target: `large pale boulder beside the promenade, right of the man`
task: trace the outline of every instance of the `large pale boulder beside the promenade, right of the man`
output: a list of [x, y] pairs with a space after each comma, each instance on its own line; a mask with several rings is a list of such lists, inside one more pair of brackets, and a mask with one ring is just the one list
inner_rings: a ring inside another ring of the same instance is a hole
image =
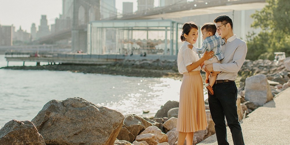
[[273, 99], [266, 75], [260, 74], [248, 77], [245, 85], [245, 99], [262, 106]]

